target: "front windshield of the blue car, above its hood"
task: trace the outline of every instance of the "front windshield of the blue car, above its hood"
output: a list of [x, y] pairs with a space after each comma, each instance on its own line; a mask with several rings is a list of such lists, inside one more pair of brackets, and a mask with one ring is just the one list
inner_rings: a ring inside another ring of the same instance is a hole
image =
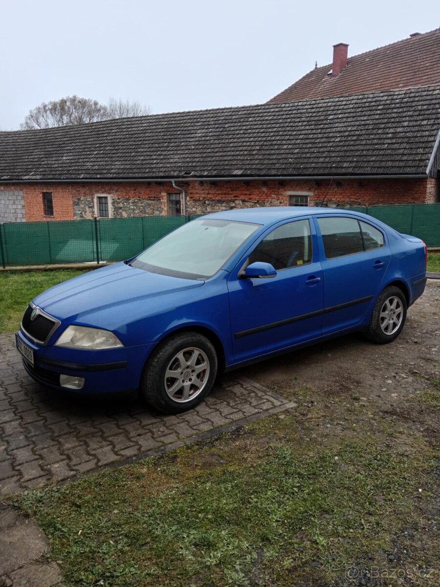
[[154, 273], [206, 279], [215, 275], [258, 224], [199, 218], [170, 232], [141, 252], [131, 266]]

